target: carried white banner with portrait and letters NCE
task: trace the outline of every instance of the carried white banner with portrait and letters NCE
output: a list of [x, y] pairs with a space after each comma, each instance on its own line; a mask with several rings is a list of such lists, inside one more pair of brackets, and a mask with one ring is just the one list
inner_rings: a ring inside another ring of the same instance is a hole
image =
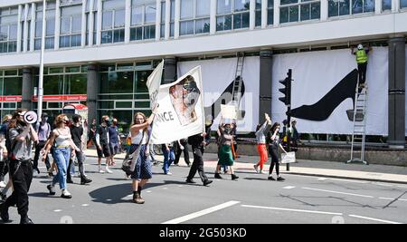
[[161, 85], [151, 134], [152, 143], [169, 143], [203, 132], [203, 93], [200, 66], [175, 82]]

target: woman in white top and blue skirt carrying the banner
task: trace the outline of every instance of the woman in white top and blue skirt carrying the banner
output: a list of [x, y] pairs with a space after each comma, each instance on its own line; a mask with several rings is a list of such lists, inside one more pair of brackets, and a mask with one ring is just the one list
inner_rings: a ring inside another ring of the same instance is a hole
[[130, 127], [131, 145], [129, 153], [133, 155], [131, 162], [132, 188], [133, 188], [133, 201], [137, 204], [143, 204], [145, 200], [141, 197], [141, 190], [144, 185], [152, 178], [151, 162], [149, 154], [149, 140], [150, 135], [148, 127], [154, 120], [156, 109], [148, 119], [142, 112], [137, 112], [134, 116], [133, 125]]

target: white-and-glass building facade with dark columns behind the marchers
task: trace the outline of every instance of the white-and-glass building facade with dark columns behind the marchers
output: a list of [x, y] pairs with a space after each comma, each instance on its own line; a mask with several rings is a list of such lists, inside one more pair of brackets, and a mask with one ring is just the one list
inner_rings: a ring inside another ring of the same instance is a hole
[[109, 114], [127, 127], [136, 111], [149, 112], [146, 81], [162, 59], [163, 82], [173, 82], [184, 62], [216, 64], [244, 53], [258, 58], [248, 79], [257, 82], [251, 109], [259, 122], [272, 112], [281, 59], [274, 57], [363, 43], [386, 50], [387, 134], [380, 134], [404, 146], [407, 0], [52, 0], [45, 9], [43, 1], [3, 0], [2, 116], [36, 109], [43, 11], [43, 109], [52, 114], [81, 102], [90, 119]]

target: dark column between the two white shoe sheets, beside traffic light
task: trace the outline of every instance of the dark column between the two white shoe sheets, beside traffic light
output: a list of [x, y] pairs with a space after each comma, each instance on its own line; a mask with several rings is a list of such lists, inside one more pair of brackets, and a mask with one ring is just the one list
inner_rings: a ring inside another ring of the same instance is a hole
[[272, 51], [260, 51], [260, 100], [259, 123], [265, 121], [264, 113], [271, 117]]

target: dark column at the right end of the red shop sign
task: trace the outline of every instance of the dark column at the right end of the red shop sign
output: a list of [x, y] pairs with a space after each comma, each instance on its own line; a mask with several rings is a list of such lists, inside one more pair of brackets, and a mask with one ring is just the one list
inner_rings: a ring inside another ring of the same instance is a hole
[[90, 63], [88, 65], [88, 80], [87, 80], [87, 100], [88, 106], [88, 123], [92, 123], [92, 120], [96, 120], [98, 113], [98, 92], [99, 92], [99, 72], [98, 65]]

